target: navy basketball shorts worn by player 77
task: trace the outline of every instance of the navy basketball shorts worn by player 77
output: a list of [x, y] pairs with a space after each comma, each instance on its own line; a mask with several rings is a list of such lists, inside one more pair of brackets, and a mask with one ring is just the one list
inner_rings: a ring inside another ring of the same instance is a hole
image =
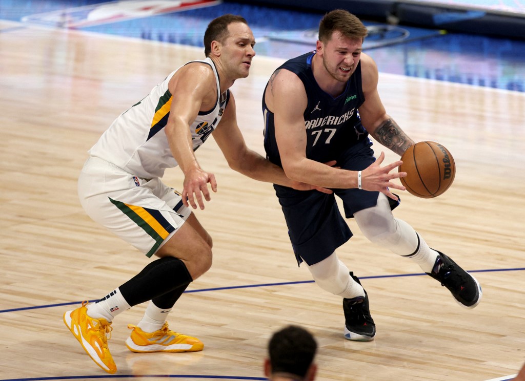
[[[370, 142], [363, 142], [349, 148], [340, 155], [336, 166], [354, 171], [369, 167], [375, 161], [371, 145]], [[336, 195], [343, 201], [346, 218], [375, 206], [379, 196], [379, 192], [357, 188], [333, 189], [332, 194], [316, 190], [298, 191], [276, 184], [274, 189], [285, 215], [297, 263], [304, 260], [308, 265], [327, 258], [353, 235], [341, 215]], [[391, 203], [391, 208], [394, 209], [397, 204]]]

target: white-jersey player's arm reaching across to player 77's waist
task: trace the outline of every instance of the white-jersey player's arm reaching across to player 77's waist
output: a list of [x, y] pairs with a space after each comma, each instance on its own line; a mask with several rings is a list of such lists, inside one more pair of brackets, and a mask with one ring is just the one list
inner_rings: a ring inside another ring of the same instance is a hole
[[289, 179], [282, 168], [248, 148], [237, 124], [235, 98], [231, 91], [223, 117], [212, 136], [226, 158], [229, 167], [245, 176], [298, 190], [317, 189], [325, 193], [332, 192], [328, 189]]

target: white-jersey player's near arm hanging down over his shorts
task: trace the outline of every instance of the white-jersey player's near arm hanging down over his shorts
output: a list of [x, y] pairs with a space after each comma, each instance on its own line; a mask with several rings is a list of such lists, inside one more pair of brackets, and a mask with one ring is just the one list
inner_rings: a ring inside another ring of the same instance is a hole
[[[173, 95], [170, 116], [164, 127], [170, 150], [184, 172], [182, 201], [196, 209], [204, 209], [203, 195], [210, 200], [207, 183], [214, 192], [217, 182], [213, 173], [199, 166], [193, 152], [190, 126], [199, 110], [210, 110], [217, 99], [217, 86], [213, 70], [207, 64], [191, 63], [179, 69], [170, 80], [168, 88]], [[196, 202], [195, 202], [196, 199]]]

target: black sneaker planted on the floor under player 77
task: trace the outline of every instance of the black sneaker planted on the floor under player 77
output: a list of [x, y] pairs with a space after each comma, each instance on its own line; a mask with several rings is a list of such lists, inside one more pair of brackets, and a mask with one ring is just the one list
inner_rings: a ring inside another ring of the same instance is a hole
[[[359, 278], [350, 273], [350, 276], [359, 284]], [[370, 315], [368, 295], [352, 299], [343, 298], [344, 337], [348, 340], [371, 341], [375, 336], [375, 323]]]

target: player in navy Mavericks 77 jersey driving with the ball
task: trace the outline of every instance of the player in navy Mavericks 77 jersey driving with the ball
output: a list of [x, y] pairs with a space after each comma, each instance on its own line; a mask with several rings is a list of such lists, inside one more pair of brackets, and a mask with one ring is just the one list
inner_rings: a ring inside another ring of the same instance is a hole
[[[370, 241], [414, 260], [464, 307], [481, 300], [474, 277], [392, 214], [399, 200], [390, 189], [403, 188], [382, 170], [393, 167], [379, 168], [384, 153], [374, 158], [369, 134], [398, 155], [414, 141], [385, 112], [376, 64], [362, 53], [366, 35], [366, 27], [346, 10], [329, 12], [320, 22], [316, 51], [282, 64], [262, 99], [268, 159], [290, 179], [334, 192], [274, 185], [298, 264], [305, 262], [322, 289], [343, 298], [344, 337], [359, 341], [373, 340], [375, 324], [359, 278], [335, 254], [352, 236], [335, 195]], [[322, 164], [330, 160], [336, 167]]]

